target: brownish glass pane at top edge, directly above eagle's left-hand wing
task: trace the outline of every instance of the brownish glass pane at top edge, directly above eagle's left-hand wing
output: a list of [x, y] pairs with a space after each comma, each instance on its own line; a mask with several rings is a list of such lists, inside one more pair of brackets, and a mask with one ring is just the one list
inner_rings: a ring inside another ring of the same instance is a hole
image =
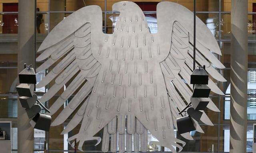
[[104, 0], [51, 0], [50, 11], [76, 11], [89, 5], [98, 5], [104, 11], [104, 2]]

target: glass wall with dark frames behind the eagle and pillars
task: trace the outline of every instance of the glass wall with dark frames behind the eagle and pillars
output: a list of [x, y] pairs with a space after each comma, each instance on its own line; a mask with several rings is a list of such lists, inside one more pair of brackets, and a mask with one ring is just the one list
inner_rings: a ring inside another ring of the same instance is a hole
[[[146, 16], [148, 27], [151, 33], [157, 32], [156, 5], [161, 0], [133, 0], [138, 4]], [[169, 0], [176, 2], [193, 11], [193, 0]], [[102, 31], [112, 33], [118, 14], [112, 13], [112, 5], [118, 0], [37, 0], [36, 12], [36, 49], [40, 46], [46, 35], [62, 20], [72, 12], [89, 5], [98, 5], [102, 9]], [[196, 0], [197, 16], [212, 31], [222, 51], [222, 56], [218, 58], [226, 66], [223, 70], [218, 70], [226, 78], [227, 82], [217, 82], [218, 86], [225, 93], [225, 96], [211, 95], [213, 102], [221, 112], [206, 110], [214, 126], [201, 124], [204, 133], [192, 131], [193, 141], [183, 139], [179, 134], [176, 137], [186, 141], [186, 146], [182, 152], [228, 152], [229, 151], [229, 119], [230, 119], [230, 8], [231, 0]], [[172, 15], [172, 14], [166, 14]], [[247, 130], [247, 151], [252, 152], [252, 120], [256, 120], [256, 0], [248, 0], [248, 130]], [[11, 120], [13, 122], [13, 151], [17, 151], [17, 33], [18, 33], [18, 0], [0, 0], [0, 121]], [[37, 66], [41, 63], [37, 63]], [[45, 72], [37, 74], [40, 80], [53, 67]], [[69, 82], [68, 82], [69, 83]], [[48, 90], [46, 88], [37, 89], [38, 95]], [[68, 86], [68, 84], [66, 84]], [[46, 103], [51, 106], [60, 93], [66, 88], [64, 86], [54, 98]], [[40, 92], [39, 92], [40, 91]], [[70, 98], [72, 99], [72, 97]], [[59, 114], [66, 104], [56, 112]], [[56, 118], [52, 116], [52, 120]], [[73, 116], [72, 114], [70, 118]], [[35, 151], [44, 149], [44, 141], [48, 142], [50, 153], [68, 153], [72, 147], [68, 145], [66, 139], [76, 133], [80, 128], [78, 125], [68, 134], [60, 133], [66, 127], [70, 118], [60, 126], [51, 127], [50, 132], [35, 130]], [[102, 136], [102, 131], [97, 133]], [[155, 141], [148, 132], [148, 151], [170, 151], [158, 145], [150, 145], [150, 141]], [[97, 146], [95, 141], [88, 141], [83, 146], [86, 152], [101, 150], [101, 143]]]

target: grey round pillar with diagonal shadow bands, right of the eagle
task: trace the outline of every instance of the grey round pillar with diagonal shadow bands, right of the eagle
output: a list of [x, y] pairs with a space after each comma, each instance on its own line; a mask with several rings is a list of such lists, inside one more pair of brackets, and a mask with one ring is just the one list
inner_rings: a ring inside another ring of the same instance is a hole
[[231, 2], [230, 153], [246, 153], [248, 0]]

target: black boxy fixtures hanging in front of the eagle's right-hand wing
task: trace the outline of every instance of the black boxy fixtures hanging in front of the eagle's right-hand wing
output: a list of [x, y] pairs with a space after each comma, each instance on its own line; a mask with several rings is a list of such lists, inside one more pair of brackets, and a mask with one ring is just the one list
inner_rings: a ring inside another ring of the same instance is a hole
[[209, 76], [205, 71], [205, 65], [195, 69], [190, 75], [190, 84], [194, 84], [193, 94], [190, 98], [190, 104], [182, 112], [187, 112], [186, 116], [177, 118], [177, 128], [179, 134], [196, 130], [195, 121], [200, 121], [202, 110], [208, 105], [208, 97], [211, 89], [207, 86]]

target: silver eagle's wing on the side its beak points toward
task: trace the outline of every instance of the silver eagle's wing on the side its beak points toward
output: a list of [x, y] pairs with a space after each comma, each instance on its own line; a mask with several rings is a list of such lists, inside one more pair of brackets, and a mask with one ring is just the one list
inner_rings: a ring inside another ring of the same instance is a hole
[[54, 84], [40, 98], [41, 102], [50, 100], [68, 81], [71, 81], [50, 107], [50, 115], [54, 114], [75, 93], [68, 106], [58, 114], [51, 126], [62, 124], [80, 106], [62, 133], [71, 131], [84, 116], [88, 102], [85, 99], [92, 91], [101, 67], [97, 46], [102, 39], [98, 38], [104, 36], [108, 37], [102, 32], [101, 8], [86, 6], [72, 13], [54, 27], [38, 49], [38, 52], [43, 52], [36, 61], [45, 61], [36, 71], [43, 71], [55, 65], [37, 84], [37, 88], [41, 88], [54, 80]]

